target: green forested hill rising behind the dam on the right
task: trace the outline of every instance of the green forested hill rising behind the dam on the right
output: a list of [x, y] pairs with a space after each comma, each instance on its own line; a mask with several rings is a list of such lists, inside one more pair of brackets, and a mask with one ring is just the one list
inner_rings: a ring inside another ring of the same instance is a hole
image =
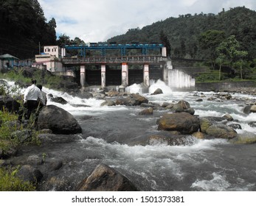
[[162, 43], [159, 38], [162, 31], [170, 42], [171, 57], [204, 59], [206, 51], [201, 50], [198, 36], [207, 30], [223, 31], [226, 37], [235, 35], [241, 49], [248, 51], [250, 58], [256, 58], [256, 12], [246, 7], [223, 10], [217, 15], [200, 13], [167, 18], [142, 29], [129, 29], [125, 35], [110, 38], [108, 42]]

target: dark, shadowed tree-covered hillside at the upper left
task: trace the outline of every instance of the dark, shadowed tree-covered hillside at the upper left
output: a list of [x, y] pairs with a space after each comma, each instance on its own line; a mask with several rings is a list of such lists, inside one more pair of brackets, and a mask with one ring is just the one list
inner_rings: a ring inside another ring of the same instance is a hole
[[46, 22], [37, 0], [0, 0], [0, 54], [34, 58], [41, 45], [55, 45], [55, 19]]

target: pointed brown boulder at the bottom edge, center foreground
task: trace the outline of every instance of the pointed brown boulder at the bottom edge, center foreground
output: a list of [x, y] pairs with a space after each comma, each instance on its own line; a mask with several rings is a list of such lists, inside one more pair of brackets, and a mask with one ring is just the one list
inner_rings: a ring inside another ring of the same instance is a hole
[[138, 191], [126, 177], [104, 164], [98, 165], [77, 191]]

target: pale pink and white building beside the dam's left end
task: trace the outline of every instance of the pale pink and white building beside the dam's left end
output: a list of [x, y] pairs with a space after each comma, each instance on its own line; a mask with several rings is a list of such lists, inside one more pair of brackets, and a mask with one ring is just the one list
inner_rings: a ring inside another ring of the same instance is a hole
[[61, 63], [61, 49], [59, 46], [44, 46], [44, 53], [35, 55], [35, 64], [37, 68], [46, 68], [48, 71], [62, 73], [63, 65]]

